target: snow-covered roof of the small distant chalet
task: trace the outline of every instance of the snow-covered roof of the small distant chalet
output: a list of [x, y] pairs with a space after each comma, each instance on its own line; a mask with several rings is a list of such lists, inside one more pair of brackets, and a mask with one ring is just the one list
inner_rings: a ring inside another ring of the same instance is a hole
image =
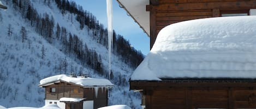
[[49, 78], [42, 79], [40, 80], [39, 86], [49, 86], [60, 81], [69, 82], [70, 84], [79, 85], [81, 87], [114, 87], [114, 84], [112, 84], [107, 79], [80, 78], [80, 77], [74, 78], [65, 74], [55, 75]]

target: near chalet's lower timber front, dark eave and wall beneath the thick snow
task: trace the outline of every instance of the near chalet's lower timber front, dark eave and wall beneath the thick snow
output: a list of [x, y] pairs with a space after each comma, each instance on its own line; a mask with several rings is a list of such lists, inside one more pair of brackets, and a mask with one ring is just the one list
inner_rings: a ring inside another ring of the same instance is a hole
[[130, 81], [146, 109], [256, 108], [255, 80]]

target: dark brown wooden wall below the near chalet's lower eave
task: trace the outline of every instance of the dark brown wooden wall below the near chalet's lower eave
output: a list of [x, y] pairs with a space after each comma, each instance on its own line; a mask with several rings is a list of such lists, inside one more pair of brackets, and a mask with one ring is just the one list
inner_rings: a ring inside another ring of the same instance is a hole
[[[150, 91], [151, 92], [151, 91]], [[146, 95], [146, 109], [255, 108], [256, 87], [158, 88]]]

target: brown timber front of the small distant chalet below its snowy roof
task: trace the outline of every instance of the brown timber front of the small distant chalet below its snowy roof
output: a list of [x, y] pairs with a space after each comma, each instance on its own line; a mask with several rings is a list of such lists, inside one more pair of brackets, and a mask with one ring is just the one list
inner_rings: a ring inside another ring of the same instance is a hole
[[84, 101], [93, 101], [93, 109], [97, 109], [99, 107], [108, 106], [108, 89], [105, 87], [99, 87], [97, 89], [93, 87], [84, 88], [63, 81], [45, 86], [45, 99], [49, 100], [47, 103], [57, 104], [57, 102], [51, 100], [59, 100], [61, 98], [84, 99], [79, 102], [64, 101], [66, 109], [82, 109]]

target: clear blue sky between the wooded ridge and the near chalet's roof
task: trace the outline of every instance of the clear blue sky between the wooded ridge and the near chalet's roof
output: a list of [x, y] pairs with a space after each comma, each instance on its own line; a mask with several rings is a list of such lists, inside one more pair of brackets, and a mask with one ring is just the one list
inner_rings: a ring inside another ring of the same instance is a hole
[[[100, 23], [107, 27], [105, 0], [73, 0], [85, 10], [97, 17]], [[127, 12], [120, 8], [116, 0], [113, 1], [113, 28], [117, 34], [129, 40], [132, 46], [141, 50], [144, 55], [150, 51], [150, 39], [146, 33], [134, 22]]]

